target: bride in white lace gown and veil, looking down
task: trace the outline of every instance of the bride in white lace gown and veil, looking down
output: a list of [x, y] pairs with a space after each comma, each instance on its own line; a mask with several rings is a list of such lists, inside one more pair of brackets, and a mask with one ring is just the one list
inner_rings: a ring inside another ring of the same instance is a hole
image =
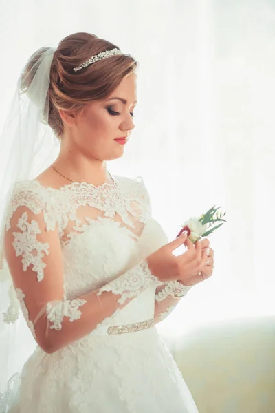
[[[212, 275], [214, 251], [186, 232], [168, 243], [142, 178], [107, 171], [131, 145], [136, 68], [109, 41], [77, 33], [35, 52], [21, 74], [27, 115], [14, 136], [25, 140], [1, 238], [14, 296], [3, 317], [17, 321], [20, 303], [37, 346], [1, 413], [197, 412], [155, 324]], [[38, 127], [54, 131], [59, 154], [32, 176], [37, 153], [54, 152]]]

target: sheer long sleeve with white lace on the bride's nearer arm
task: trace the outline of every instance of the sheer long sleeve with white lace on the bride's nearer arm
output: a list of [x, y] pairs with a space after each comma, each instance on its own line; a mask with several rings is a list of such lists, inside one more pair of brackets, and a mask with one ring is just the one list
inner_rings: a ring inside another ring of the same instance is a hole
[[11, 203], [5, 255], [23, 315], [36, 342], [49, 353], [89, 334], [151, 282], [158, 282], [142, 260], [100, 289], [66, 299], [54, 214], [47, 200], [34, 193], [26, 192], [17, 205]]

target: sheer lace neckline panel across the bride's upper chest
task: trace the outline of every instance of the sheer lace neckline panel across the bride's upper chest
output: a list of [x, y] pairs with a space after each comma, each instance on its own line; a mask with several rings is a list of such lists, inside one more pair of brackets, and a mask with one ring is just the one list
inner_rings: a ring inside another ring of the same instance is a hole
[[101, 187], [74, 182], [61, 189], [45, 189], [38, 182], [34, 185], [41, 191], [46, 190], [54, 201], [60, 239], [64, 244], [106, 218], [123, 226], [133, 240], [137, 240], [151, 217], [148, 193], [142, 180], [120, 178], [115, 184]]

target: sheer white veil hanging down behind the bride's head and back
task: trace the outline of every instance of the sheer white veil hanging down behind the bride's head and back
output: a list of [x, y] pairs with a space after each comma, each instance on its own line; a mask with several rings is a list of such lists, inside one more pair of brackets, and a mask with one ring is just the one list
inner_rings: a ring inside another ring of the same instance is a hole
[[[12, 398], [12, 385], [8, 379], [21, 370], [25, 359], [34, 350], [34, 339], [19, 310], [12, 278], [5, 262], [3, 235], [5, 215], [12, 189], [16, 182], [34, 179], [56, 158], [59, 141], [49, 127], [50, 69], [55, 49], [45, 47], [39, 59], [28, 63], [28, 88], [21, 72], [17, 89], [0, 136], [0, 413], [8, 410]], [[31, 66], [32, 65], [32, 66]], [[28, 92], [27, 92], [28, 89]], [[20, 343], [20, 346], [19, 346]], [[18, 348], [20, 348], [20, 353]]]

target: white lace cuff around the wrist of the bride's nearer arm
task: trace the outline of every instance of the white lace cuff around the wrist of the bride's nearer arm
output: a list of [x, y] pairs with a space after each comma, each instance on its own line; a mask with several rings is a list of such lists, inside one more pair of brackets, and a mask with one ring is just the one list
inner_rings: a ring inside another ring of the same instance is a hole
[[111, 291], [113, 294], [120, 294], [121, 297], [118, 299], [118, 303], [124, 304], [126, 299], [135, 297], [145, 291], [152, 282], [157, 285], [162, 284], [157, 277], [151, 274], [148, 263], [144, 260], [125, 274], [102, 286], [97, 295], [101, 295], [104, 291]]

